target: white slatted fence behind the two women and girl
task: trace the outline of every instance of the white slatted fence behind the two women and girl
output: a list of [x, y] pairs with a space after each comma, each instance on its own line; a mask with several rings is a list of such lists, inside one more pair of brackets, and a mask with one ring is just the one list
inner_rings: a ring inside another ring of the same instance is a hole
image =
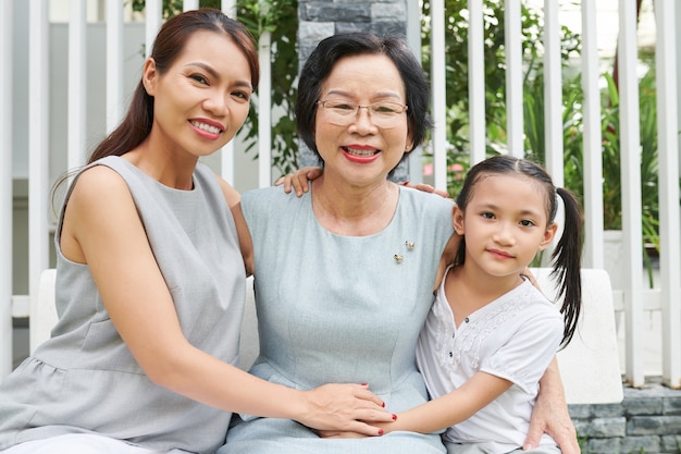
[[[2, 2], [0, 10], [0, 377], [12, 367], [12, 316], [27, 314], [29, 298], [36, 297], [38, 278], [42, 269], [49, 267], [49, 232], [51, 219], [48, 216], [50, 201], [49, 162], [54, 150], [48, 143], [50, 131], [50, 68], [48, 62], [48, 0], [30, 0], [28, 44], [28, 99], [25, 100], [29, 119], [28, 140], [28, 199], [29, 199], [29, 295], [13, 295], [12, 292], [12, 133], [20, 122], [12, 111], [13, 106], [13, 46], [12, 28], [26, 26], [12, 23], [13, 1]], [[107, 125], [110, 131], [122, 115], [121, 99], [125, 98], [123, 86], [123, 2], [107, 1], [106, 8], [106, 102]], [[197, 8], [198, 1], [185, 0], [185, 9]], [[624, 378], [634, 385], [644, 382], [644, 314], [661, 311], [660, 364], [663, 380], [673, 388], [681, 386], [681, 292], [679, 289], [681, 272], [680, 247], [680, 204], [679, 204], [679, 108], [678, 108], [678, 50], [680, 41], [676, 21], [681, 17], [674, 10], [677, 0], [656, 0], [656, 76], [659, 147], [659, 212], [660, 212], [660, 260], [659, 287], [644, 289], [641, 272], [641, 195], [640, 181], [640, 132], [639, 132], [639, 88], [636, 76], [637, 49], [635, 33], [619, 34], [619, 83], [621, 106], [621, 162], [622, 206], [623, 206], [623, 250], [624, 265], [621, 272], [621, 289], [614, 291], [616, 311], [623, 314], [626, 339]], [[407, 8], [413, 11], [411, 0], [406, 0]], [[471, 159], [476, 162], [485, 152], [484, 115], [484, 61], [482, 49], [483, 0], [469, 0], [469, 94]], [[559, 56], [559, 2], [544, 1], [545, 36], [545, 105], [546, 105], [546, 157], [547, 168], [558, 185], [562, 184], [562, 116], [561, 116], [561, 68]], [[67, 168], [82, 164], [83, 150], [87, 148], [87, 99], [84, 87], [88, 84], [85, 49], [86, 0], [71, 0], [69, 14], [69, 71], [67, 79]], [[234, 1], [223, 0], [223, 10], [232, 14]], [[508, 148], [512, 152], [523, 149], [523, 106], [522, 106], [522, 61], [520, 54], [520, 1], [505, 1], [506, 49], [507, 49], [507, 106], [508, 106]], [[636, 2], [619, 0], [619, 27], [623, 30], [636, 29]], [[446, 135], [444, 130], [444, 0], [431, 0], [432, 29], [432, 86], [434, 182], [437, 187], [446, 187]], [[410, 14], [410, 21], [414, 20]], [[161, 0], [147, 0], [146, 48], [149, 49], [161, 23]], [[607, 268], [604, 253], [603, 196], [602, 196], [602, 137], [600, 137], [600, 99], [599, 70], [596, 45], [596, 0], [582, 0], [582, 61], [581, 72], [584, 89], [584, 199], [586, 220], [586, 244], [584, 267]], [[269, 124], [268, 97], [269, 78], [269, 37], [261, 38], [262, 82], [258, 102], [260, 112], [268, 112], [260, 124]], [[14, 100], [14, 103], [15, 100]], [[261, 127], [259, 132], [258, 181], [269, 184], [271, 181], [270, 142], [271, 132]], [[224, 150], [223, 150], [224, 151]], [[221, 171], [233, 181], [234, 161], [232, 149], [223, 152]], [[609, 263], [608, 263], [609, 265]]]

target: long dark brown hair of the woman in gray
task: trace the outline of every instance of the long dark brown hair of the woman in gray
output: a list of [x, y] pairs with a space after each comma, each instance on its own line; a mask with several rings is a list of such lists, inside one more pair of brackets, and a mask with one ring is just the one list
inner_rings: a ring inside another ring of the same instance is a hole
[[[212, 8], [187, 11], [169, 19], [159, 30], [150, 58], [163, 74], [184, 50], [189, 37], [200, 30], [224, 33], [244, 52], [250, 66], [253, 90], [260, 81], [258, 49], [252, 35], [240, 23]], [[153, 97], [145, 90], [141, 78], [121, 124], [106, 137], [90, 155], [88, 163], [107, 156], [122, 156], [137, 147], [151, 132], [153, 124]]]

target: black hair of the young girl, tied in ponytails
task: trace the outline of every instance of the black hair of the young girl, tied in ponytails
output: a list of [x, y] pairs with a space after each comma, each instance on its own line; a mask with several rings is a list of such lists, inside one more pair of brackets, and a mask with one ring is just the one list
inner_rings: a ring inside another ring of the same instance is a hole
[[[565, 229], [554, 253], [552, 254], [552, 278], [559, 283], [558, 297], [565, 296], [560, 312], [564, 315], [565, 329], [561, 346], [568, 345], [577, 329], [582, 308], [582, 223], [580, 204], [574, 195], [565, 188], [557, 188], [550, 175], [541, 165], [528, 159], [512, 156], [495, 156], [473, 165], [463, 181], [463, 187], [457, 197], [457, 205], [465, 211], [475, 191], [475, 184], [484, 176], [499, 174], [518, 174], [532, 179], [546, 193], [546, 218], [548, 225], [555, 222], [560, 196], [565, 206]], [[463, 263], [466, 257], [466, 235], [457, 251], [455, 263]]]

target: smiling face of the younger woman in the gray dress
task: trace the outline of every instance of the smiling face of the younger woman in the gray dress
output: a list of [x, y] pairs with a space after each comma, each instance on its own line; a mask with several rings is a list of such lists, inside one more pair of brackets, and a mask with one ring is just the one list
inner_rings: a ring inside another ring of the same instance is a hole
[[214, 152], [246, 121], [250, 81], [246, 57], [223, 33], [196, 32], [163, 74], [147, 60], [143, 82], [154, 98], [150, 140], [178, 156]]

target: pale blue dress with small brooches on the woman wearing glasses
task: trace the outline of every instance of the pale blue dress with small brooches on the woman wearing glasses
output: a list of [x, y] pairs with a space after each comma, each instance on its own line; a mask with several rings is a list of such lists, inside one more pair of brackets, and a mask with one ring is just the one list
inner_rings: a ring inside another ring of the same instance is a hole
[[[310, 194], [244, 193], [253, 238], [260, 356], [250, 370], [297, 389], [369, 383], [398, 413], [428, 398], [416, 344], [433, 303], [451, 201], [400, 188], [389, 225], [369, 236], [322, 228]], [[412, 244], [412, 248], [409, 246]], [[438, 434], [320, 439], [285, 419], [235, 415], [220, 454], [444, 453]]]

